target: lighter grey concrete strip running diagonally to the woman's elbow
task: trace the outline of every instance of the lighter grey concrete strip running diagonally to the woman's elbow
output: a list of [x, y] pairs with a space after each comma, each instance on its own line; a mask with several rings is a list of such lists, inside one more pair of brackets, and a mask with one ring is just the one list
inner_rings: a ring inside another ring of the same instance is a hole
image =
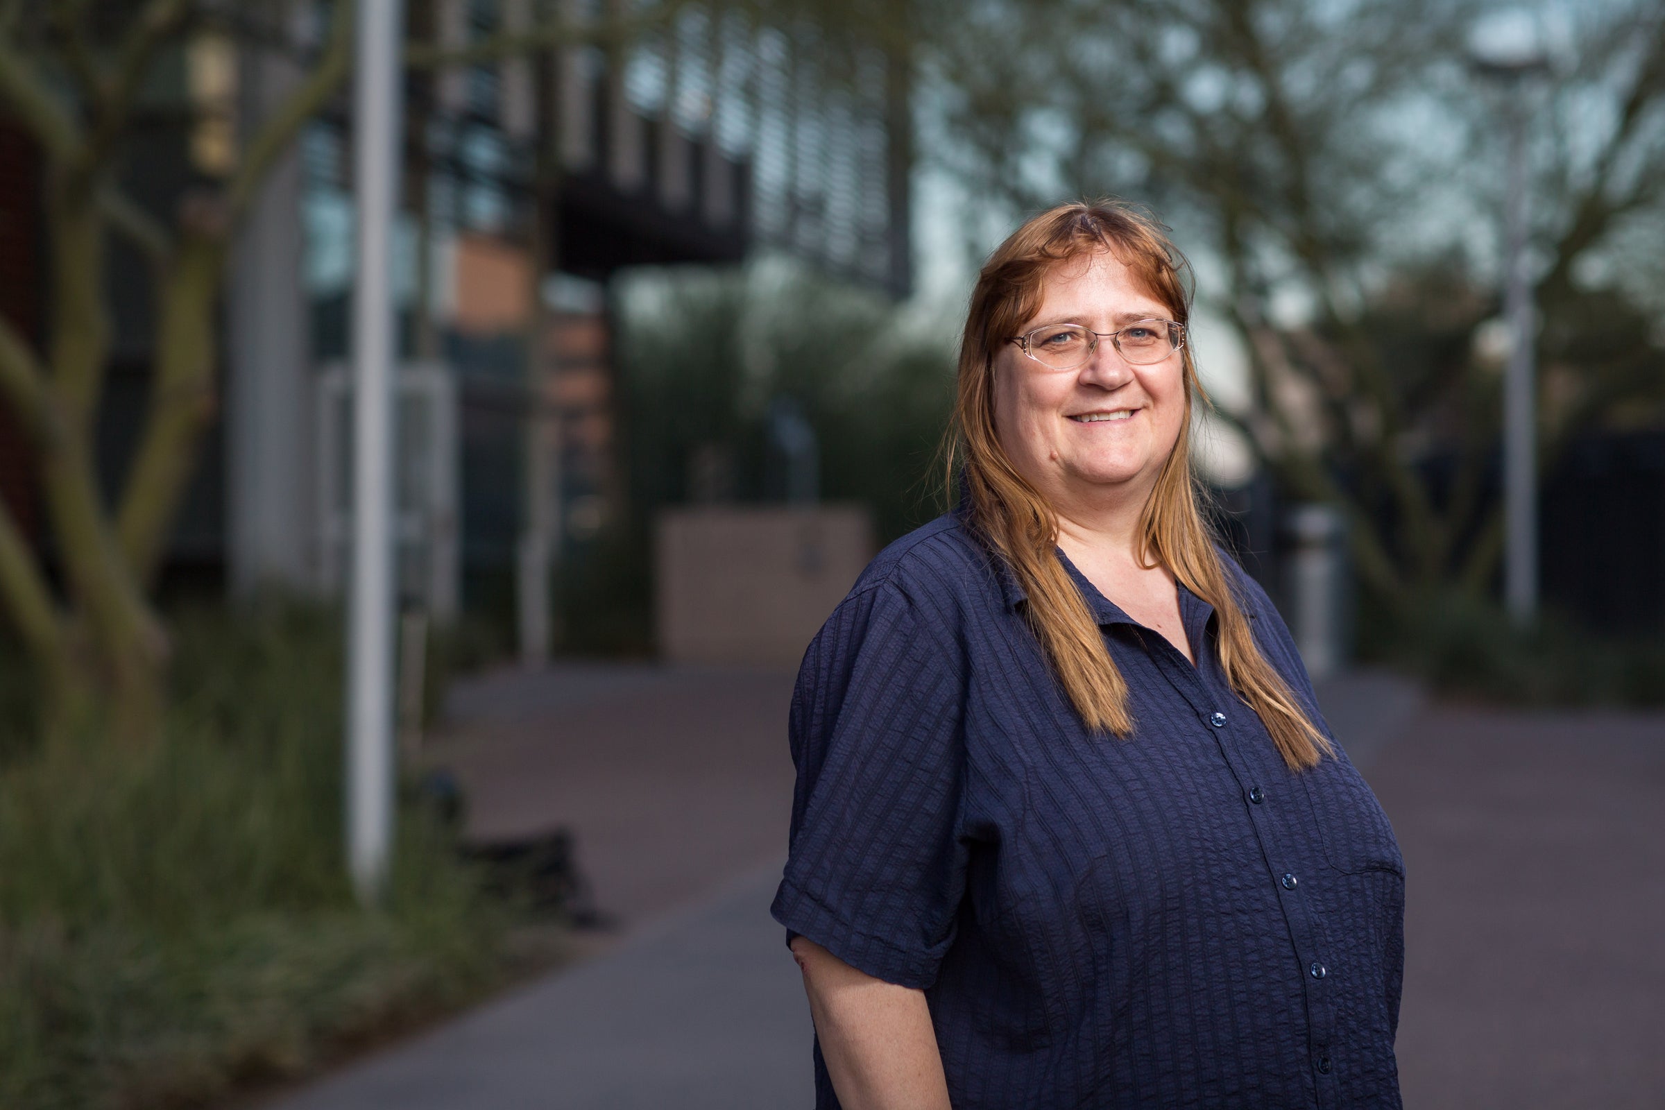
[[781, 862], [366, 1060], [283, 1110], [809, 1107], [813, 1028], [769, 919]]

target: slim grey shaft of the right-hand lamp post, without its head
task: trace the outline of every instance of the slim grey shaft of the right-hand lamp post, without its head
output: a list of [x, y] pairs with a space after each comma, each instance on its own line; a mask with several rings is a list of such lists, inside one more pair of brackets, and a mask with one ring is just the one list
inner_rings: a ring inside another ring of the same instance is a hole
[[1537, 384], [1532, 285], [1527, 278], [1527, 110], [1508, 108], [1508, 236], [1503, 313], [1512, 343], [1503, 371], [1503, 597], [1518, 626], [1538, 614]]

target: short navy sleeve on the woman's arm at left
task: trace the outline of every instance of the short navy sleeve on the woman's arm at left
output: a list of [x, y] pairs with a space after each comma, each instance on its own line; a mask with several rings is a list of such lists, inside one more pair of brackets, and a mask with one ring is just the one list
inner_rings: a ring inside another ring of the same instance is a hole
[[882, 582], [828, 619], [793, 696], [798, 787], [774, 919], [902, 987], [936, 980], [964, 894], [962, 694], [952, 637]]

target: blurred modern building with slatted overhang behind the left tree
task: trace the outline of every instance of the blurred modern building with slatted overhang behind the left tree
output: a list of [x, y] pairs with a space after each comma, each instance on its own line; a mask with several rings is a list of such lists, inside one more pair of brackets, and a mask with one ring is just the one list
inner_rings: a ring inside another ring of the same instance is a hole
[[[411, 35], [443, 50], [573, 22], [603, 3], [415, 0]], [[276, 52], [195, 43], [188, 133], [135, 158], [158, 211], [223, 173], [236, 133], [301, 78]], [[909, 288], [907, 88], [879, 50], [834, 50], [701, 8], [628, 50], [544, 50], [406, 80], [398, 225], [403, 587], [446, 609], [509, 586], [618, 511], [609, 283], [626, 266], [738, 263], [788, 251]], [[345, 374], [353, 283], [346, 97], [278, 166], [238, 243], [225, 303], [225, 406], [176, 528], [170, 567], [235, 591], [330, 589], [343, 557]], [[38, 166], [0, 126], [0, 311], [37, 326]], [[142, 263], [115, 248], [118, 359], [102, 456], [120, 466], [143, 413]], [[123, 300], [125, 298], [125, 300]], [[5, 419], [0, 411], [0, 421]], [[33, 519], [32, 481], [0, 426], [0, 491]], [[450, 473], [451, 478], [446, 478]], [[453, 489], [446, 491], [446, 481]], [[38, 533], [37, 533], [38, 534]], [[455, 566], [456, 584], [436, 582]]]

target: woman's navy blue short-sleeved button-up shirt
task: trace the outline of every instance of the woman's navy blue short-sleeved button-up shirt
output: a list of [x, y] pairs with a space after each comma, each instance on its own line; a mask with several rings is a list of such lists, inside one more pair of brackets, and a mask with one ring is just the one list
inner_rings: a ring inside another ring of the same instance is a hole
[[[1277, 611], [1225, 561], [1324, 727]], [[1399, 1107], [1404, 860], [1370, 787], [1339, 746], [1284, 766], [1200, 597], [1179, 589], [1194, 667], [1064, 562], [1134, 736], [1087, 732], [1011, 572], [939, 518], [804, 656], [774, 917], [924, 989], [954, 1110]], [[831, 1110], [819, 1045], [814, 1068]]]

